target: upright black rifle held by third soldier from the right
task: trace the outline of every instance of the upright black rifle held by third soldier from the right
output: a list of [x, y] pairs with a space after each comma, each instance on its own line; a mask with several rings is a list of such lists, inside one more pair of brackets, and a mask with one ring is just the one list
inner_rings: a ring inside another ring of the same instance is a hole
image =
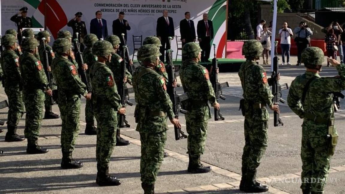
[[[224, 82], [220, 84], [218, 82], [218, 74], [217, 74], [218, 62], [216, 58], [216, 44], [213, 44], [213, 49], [214, 49], [214, 58], [212, 59], [212, 71], [211, 71], [212, 77], [210, 81], [211, 81], [213, 90], [215, 91], [215, 94], [216, 94], [216, 101], [218, 101], [219, 98], [222, 100], [225, 100], [225, 96], [222, 95], [222, 89], [229, 87], [229, 83]], [[220, 110], [217, 110], [216, 108], [214, 109], [214, 117], [215, 117], [215, 120], [225, 119], [223, 115], [220, 113]]]

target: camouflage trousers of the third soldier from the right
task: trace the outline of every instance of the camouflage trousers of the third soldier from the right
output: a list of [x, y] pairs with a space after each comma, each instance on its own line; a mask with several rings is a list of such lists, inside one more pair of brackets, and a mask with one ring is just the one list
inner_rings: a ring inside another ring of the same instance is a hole
[[207, 135], [207, 124], [210, 118], [208, 106], [195, 106], [188, 110], [186, 117], [186, 129], [188, 133], [187, 149], [192, 157], [203, 155]]

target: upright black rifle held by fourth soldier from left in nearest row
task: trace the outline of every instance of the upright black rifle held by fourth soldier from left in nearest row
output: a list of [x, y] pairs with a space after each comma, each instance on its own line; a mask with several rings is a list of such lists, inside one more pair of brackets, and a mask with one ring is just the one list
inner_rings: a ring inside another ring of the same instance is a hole
[[[121, 56], [122, 58], [125, 57], [126, 52], [127, 52], [127, 46], [124, 45], [122, 47], [122, 56]], [[121, 80], [119, 80], [120, 84], [119, 84], [118, 91], [119, 91], [119, 95], [121, 97], [122, 107], [125, 107], [126, 104], [128, 104], [129, 106], [132, 106], [133, 103], [131, 103], [128, 100], [129, 99], [129, 93], [132, 93], [132, 91], [129, 90], [129, 88], [127, 88], [127, 86], [126, 86], [126, 83], [123, 82], [123, 80], [126, 77], [126, 60], [121, 61], [120, 72], [121, 72]], [[133, 89], [133, 88], [131, 88], [131, 89]], [[134, 92], [134, 90], [133, 90], [133, 92]], [[130, 125], [128, 124], [128, 121], [126, 120], [126, 115], [120, 115], [119, 127], [120, 128], [130, 127]]]

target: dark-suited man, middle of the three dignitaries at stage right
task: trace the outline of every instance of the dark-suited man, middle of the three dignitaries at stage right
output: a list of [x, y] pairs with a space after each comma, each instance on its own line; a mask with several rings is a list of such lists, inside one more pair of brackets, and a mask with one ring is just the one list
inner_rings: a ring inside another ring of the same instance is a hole
[[190, 12], [186, 12], [185, 19], [180, 21], [180, 34], [182, 46], [196, 41], [194, 21], [190, 19]]

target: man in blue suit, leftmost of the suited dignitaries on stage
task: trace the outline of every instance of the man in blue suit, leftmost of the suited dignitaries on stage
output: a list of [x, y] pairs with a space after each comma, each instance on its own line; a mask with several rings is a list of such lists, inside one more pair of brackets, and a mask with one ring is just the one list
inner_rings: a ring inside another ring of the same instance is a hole
[[96, 11], [96, 18], [90, 22], [90, 33], [95, 34], [98, 39], [108, 36], [107, 20], [102, 19], [102, 12]]

